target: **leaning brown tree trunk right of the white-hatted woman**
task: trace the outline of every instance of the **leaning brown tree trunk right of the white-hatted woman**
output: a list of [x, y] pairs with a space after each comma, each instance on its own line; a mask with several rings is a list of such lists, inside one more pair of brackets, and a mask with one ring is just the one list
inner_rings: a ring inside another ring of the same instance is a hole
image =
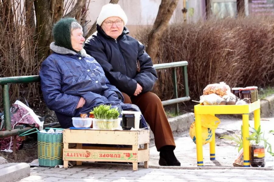
[[157, 64], [156, 57], [160, 38], [167, 29], [168, 22], [176, 8], [178, 0], [162, 0], [153, 28], [149, 33], [149, 40], [146, 52], [151, 57], [154, 64]]

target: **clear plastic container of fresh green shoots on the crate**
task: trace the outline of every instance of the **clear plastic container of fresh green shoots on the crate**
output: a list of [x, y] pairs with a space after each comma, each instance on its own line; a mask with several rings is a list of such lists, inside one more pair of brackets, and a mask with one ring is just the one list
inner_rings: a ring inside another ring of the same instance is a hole
[[118, 118], [118, 108], [111, 108], [111, 105], [100, 105], [93, 108], [93, 129], [95, 130], [122, 130], [121, 118]]

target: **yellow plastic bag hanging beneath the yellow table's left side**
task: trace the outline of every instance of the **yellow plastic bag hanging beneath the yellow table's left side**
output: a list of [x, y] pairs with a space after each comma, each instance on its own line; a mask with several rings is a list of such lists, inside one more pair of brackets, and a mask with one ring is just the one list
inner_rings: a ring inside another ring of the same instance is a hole
[[[212, 140], [212, 129], [216, 129], [220, 124], [220, 119], [209, 115], [204, 114], [201, 116], [202, 122], [202, 143], [203, 145], [211, 142]], [[195, 121], [190, 125], [189, 135], [194, 143], [196, 143], [196, 130], [195, 130]]]

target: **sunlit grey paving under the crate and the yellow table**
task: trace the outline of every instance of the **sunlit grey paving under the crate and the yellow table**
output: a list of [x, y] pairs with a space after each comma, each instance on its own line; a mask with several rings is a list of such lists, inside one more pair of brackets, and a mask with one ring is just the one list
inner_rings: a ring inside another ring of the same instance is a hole
[[[251, 123], [251, 122], [250, 122]], [[263, 119], [263, 128], [273, 127], [274, 118]], [[220, 128], [237, 130], [241, 120], [222, 119]], [[252, 126], [252, 124], [251, 124]], [[138, 171], [132, 171], [132, 165], [105, 163], [84, 163], [88, 165], [72, 168], [33, 167], [29, 177], [19, 182], [65, 182], [65, 181], [274, 181], [274, 161], [266, 162], [263, 168], [238, 168], [232, 163], [237, 155], [237, 149], [227, 144], [216, 146], [216, 160], [209, 160], [209, 144], [203, 146], [205, 167], [196, 166], [196, 147], [187, 134], [181, 133], [175, 137], [177, 145], [175, 154], [181, 161], [181, 167], [160, 167], [159, 153], [156, 147], [150, 148], [149, 169], [144, 169], [142, 163]]]

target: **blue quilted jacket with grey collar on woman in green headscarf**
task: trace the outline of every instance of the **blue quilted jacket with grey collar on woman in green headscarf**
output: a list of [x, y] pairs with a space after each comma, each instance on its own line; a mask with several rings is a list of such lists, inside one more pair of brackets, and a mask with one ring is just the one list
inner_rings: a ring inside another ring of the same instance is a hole
[[[89, 113], [100, 104], [120, 105], [121, 92], [109, 84], [100, 64], [84, 49], [76, 53], [54, 42], [50, 48], [54, 53], [44, 60], [39, 75], [44, 101], [56, 112], [61, 126], [63, 120]], [[86, 103], [76, 109], [80, 97]]]

